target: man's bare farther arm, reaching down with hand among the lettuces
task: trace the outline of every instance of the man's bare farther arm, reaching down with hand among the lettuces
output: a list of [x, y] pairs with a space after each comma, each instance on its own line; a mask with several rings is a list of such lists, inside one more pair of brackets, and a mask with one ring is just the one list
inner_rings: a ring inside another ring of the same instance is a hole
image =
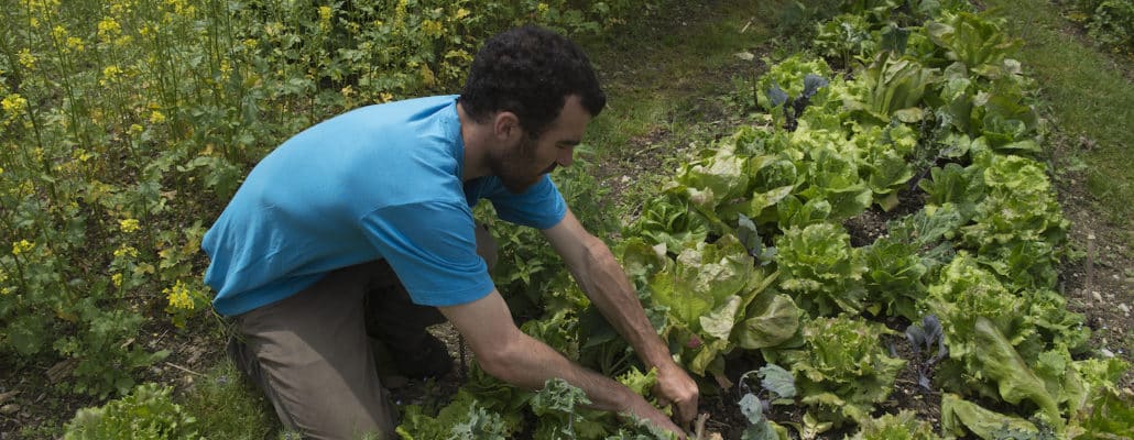
[[658, 369], [655, 391], [675, 404], [677, 420], [691, 422], [697, 412], [696, 382], [674, 362], [669, 347], [646, 319], [637, 294], [610, 248], [587, 232], [570, 211], [559, 225], [544, 230], [544, 236], [607, 321], [626, 338], [646, 366]]

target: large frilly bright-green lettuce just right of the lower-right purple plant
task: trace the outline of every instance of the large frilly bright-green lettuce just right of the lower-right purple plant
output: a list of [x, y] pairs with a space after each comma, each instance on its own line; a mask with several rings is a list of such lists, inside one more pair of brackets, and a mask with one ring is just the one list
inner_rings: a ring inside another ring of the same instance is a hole
[[1106, 374], [1090, 373], [1092, 362], [1072, 359], [1088, 333], [1082, 316], [1056, 311], [1053, 293], [1014, 294], [967, 253], [929, 289], [925, 305], [942, 318], [949, 348], [948, 367], [938, 370], [946, 388], [1038, 411], [1057, 432], [1065, 415], [1106, 388]]

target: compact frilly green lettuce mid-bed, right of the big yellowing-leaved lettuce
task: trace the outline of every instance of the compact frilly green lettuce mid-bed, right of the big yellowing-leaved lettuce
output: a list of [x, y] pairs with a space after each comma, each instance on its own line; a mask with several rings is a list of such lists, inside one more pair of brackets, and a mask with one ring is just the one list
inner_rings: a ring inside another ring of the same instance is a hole
[[862, 312], [866, 289], [862, 252], [841, 226], [815, 223], [776, 237], [779, 287], [813, 316]]

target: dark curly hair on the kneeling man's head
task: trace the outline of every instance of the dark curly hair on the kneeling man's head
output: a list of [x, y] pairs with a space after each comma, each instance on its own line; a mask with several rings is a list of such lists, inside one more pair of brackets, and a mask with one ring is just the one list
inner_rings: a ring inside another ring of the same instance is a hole
[[538, 137], [573, 94], [582, 99], [592, 118], [607, 104], [583, 50], [562, 35], [528, 25], [484, 43], [473, 59], [459, 102], [477, 122], [499, 111], [516, 113], [521, 128]]

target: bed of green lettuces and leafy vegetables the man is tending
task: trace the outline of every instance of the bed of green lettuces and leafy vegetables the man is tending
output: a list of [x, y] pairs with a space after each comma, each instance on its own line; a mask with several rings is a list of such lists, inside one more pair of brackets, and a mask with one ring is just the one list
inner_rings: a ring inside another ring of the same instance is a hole
[[[762, 119], [697, 149], [623, 230], [623, 264], [675, 358], [706, 394], [744, 391], [744, 439], [787, 426], [805, 439], [1131, 437], [1134, 397], [1116, 384], [1128, 365], [1088, 346], [1056, 290], [1068, 222], [1036, 84], [1010, 58], [1021, 42], [963, 1], [843, 11], [813, 43], [847, 71], [803, 54], [771, 66], [748, 92]], [[854, 246], [844, 225], [866, 212], [889, 219], [885, 234]], [[524, 331], [651, 397], [651, 374], [567, 281], [547, 281], [557, 294]], [[730, 375], [742, 362], [763, 366]], [[886, 414], [904, 370], [940, 420]], [[435, 416], [411, 406], [399, 432], [653, 435], [583, 399], [474, 369]]]

